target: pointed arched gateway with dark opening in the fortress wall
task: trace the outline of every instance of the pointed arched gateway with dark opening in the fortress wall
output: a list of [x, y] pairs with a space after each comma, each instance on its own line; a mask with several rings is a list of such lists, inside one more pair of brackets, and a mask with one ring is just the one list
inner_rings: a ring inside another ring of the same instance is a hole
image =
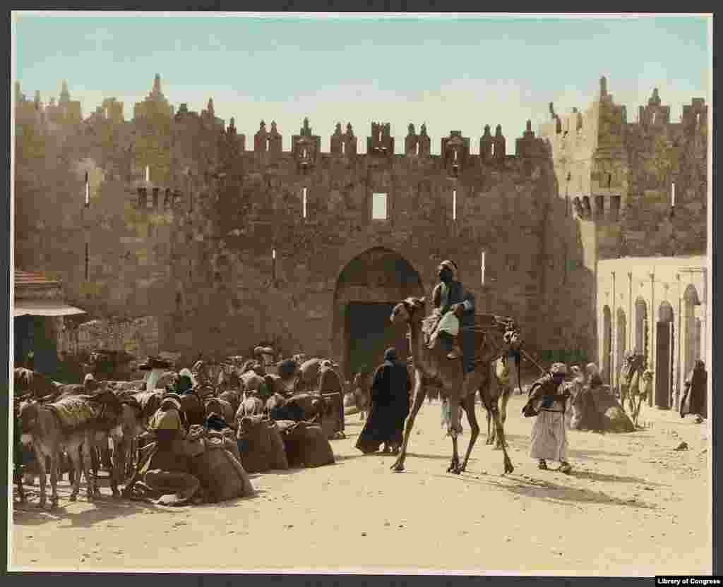
[[390, 249], [367, 249], [343, 268], [334, 291], [332, 348], [347, 378], [362, 366], [377, 367], [389, 346], [406, 359], [406, 331], [394, 327], [389, 317], [407, 296], [424, 296], [422, 278]]

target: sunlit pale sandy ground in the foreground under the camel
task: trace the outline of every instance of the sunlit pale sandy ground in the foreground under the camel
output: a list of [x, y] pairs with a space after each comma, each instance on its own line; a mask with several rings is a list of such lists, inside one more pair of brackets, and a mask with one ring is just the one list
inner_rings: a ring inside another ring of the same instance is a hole
[[[515, 471], [484, 445], [469, 472], [447, 474], [451, 442], [439, 403], [425, 403], [406, 472], [390, 455], [333, 440], [337, 463], [252, 475], [257, 497], [220, 505], [160, 507], [69, 502], [41, 511], [37, 485], [13, 513], [14, 570], [296, 570], [655, 575], [711, 573], [710, 443], [706, 425], [643, 408], [632, 434], [568, 432], [570, 475], [539, 471], [529, 458], [532, 420], [510, 400]], [[484, 422], [484, 410], [477, 407]], [[461, 447], [469, 426], [464, 423]], [[680, 442], [688, 450], [673, 450]], [[557, 466], [557, 463], [552, 463]], [[273, 571], [272, 571], [273, 572]]]

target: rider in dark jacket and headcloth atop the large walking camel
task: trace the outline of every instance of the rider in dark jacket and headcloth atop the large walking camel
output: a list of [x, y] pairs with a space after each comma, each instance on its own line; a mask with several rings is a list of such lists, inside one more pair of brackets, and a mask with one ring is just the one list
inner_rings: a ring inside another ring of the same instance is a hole
[[437, 325], [432, 343], [435, 338], [440, 338], [443, 348], [450, 349], [447, 358], [459, 359], [463, 355], [463, 349], [458, 343], [460, 329], [474, 326], [474, 294], [466, 291], [458, 280], [457, 265], [454, 262], [442, 261], [437, 272], [440, 283], [432, 291], [432, 306], [442, 314], [442, 319]]

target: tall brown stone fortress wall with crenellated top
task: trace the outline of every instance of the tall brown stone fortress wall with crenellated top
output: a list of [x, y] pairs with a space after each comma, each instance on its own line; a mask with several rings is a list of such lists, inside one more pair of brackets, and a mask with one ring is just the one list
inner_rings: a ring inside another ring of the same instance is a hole
[[[685, 108], [690, 120], [706, 111]], [[131, 121], [113, 98], [83, 119], [66, 85], [48, 104], [16, 87], [16, 264], [60, 278], [93, 317], [154, 317], [168, 351], [223, 356], [273, 340], [345, 364], [349, 304], [429, 295], [449, 257], [478, 311], [515, 317], [532, 350], [593, 357], [596, 261], [670, 247], [664, 181], [640, 162], [657, 153], [654, 137], [705, 132], [656, 112], [628, 124], [601, 91], [539, 137], [528, 122], [515, 155], [500, 127], [483, 130], [479, 155], [456, 131], [430, 155], [424, 125], [395, 154], [388, 123], [372, 123], [365, 154], [340, 123], [324, 152], [308, 120], [291, 151], [273, 122], [247, 150], [213, 100], [176, 111], [158, 76]], [[676, 243], [690, 254], [705, 249], [700, 181], [681, 180], [672, 220], [688, 228]], [[385, 219], [373, 218], [375, 194]]]

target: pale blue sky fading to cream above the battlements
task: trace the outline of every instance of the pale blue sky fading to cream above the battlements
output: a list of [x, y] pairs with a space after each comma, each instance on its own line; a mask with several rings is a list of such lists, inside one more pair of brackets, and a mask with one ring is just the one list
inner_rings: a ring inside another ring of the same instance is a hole
[[601, 75], [617, 103], [637, 106], [658, 87], [677, 121], [690, 98], [710, 102], [711, 49], [701, 16], [626, 17], [192, 17], [17, 14], [15, 78], [32, 98], [68, 80], [84, 116], [116, 97], [132, 117], [161, 74], [176, 108], [236, 119], [247, 147], [261, 119], [291, 145], [304, 116], [328, 150], [348, 121], [366, 150], [371, 121], [390, 122], [395, 150], [422, 122], [432, 153], [450, 130], [479, 151], [484, 124], [502, 124], [508, 152], [527, 119], [585, 110]]

